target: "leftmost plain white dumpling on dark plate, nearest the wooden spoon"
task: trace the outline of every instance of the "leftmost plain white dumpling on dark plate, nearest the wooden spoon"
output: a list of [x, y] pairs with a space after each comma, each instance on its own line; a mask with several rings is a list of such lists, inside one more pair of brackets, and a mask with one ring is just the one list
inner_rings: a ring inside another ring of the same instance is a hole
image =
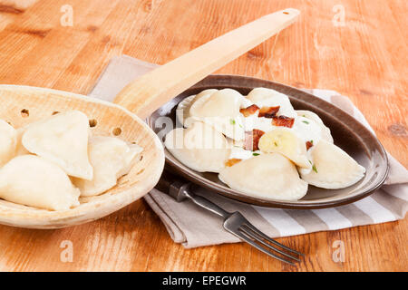
[[164, 144], [181, 163], [199, 172], [219, 172], [230, 151], [224, 135], [199, 121], [170, 131]]

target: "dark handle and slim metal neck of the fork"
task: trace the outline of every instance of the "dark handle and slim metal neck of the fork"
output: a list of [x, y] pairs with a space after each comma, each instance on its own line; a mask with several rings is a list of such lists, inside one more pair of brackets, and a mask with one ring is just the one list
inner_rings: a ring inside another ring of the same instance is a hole
[[[173, 181], [171, 182], [169, 180]], [[159, 181], [157, 188], [160, 190], [164, 190], [164, 192], [167, 192], [170, 197], [176, 199], [177, 202], [190, 199], [199, 207], [205, 208], [222, 218], [228, 218], [231, 215], [227, 210], [219, 208], [219, 206], [217, 206], [209, 199], [194, 194], [192, 192], [191, 185], [191, 182], [186, 182], [185, 180], [179, 179], [169, 172], [165, 171]]]

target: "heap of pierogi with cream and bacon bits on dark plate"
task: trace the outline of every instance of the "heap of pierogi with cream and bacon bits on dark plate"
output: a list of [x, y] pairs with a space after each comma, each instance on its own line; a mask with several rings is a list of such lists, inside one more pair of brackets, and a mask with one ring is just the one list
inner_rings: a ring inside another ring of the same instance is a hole
[[[244, 194], [296, 200], [306, 195], [308, 184], [341, 189], [364, 177], [364, 167], [333, 144], [320, 117], [295, 110], [281, 92], [255, 88], [244, 96], [232, 89], [205, 90], [180, 102], [176, 114], [185, 129], [166, 136], [170, 153], [190, 169], [219, 173], [221, 181]], [[218, 140], [224, 145], [191, 149], [186, 137], [177, 137], [182, 133], [193, 133], [195, 144]], [[181, 147], [175, 149], [176, 142]]]

